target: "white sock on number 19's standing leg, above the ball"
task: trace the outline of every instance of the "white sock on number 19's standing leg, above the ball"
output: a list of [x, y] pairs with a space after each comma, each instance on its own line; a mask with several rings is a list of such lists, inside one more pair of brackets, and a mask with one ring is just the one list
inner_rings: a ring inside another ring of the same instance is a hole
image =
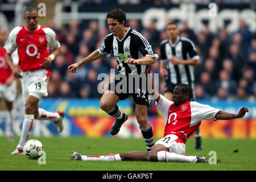
[[22, 124], [22, 133], [20, 135], [19, 144], [17, 148], [23, 147], [24, 144], [27, 142], [33, 123], [34, 123], [34, 115], [26, 114]]

